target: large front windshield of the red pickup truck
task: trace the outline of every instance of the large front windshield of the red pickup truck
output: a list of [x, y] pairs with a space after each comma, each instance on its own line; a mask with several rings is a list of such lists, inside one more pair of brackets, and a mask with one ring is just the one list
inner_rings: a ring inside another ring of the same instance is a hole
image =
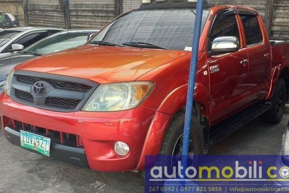
[[[184, 9], [132, 11], [102, 29], [92, 43], [147, 43], [155, 45], [155, 48], [189, 50], [192, 47], [195, 12]], [[208, 15], [209, 11], [204, 10], [202, 28]]]

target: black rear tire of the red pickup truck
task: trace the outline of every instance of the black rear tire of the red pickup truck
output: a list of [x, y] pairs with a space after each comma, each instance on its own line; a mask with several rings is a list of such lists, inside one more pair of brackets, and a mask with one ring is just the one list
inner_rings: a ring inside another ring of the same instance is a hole
[[283, 79], [279, 79], [272, 98], [269, 100], [272, 108], [263, 115], [263, 120], [268, 123], [280, 123], [286, 103], [286, 85]]

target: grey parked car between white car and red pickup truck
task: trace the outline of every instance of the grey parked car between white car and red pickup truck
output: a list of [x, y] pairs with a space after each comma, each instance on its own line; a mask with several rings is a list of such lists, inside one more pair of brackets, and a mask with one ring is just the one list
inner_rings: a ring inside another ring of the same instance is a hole
[[95, 34], [97, 29], [65, 30], [34, 43], [16, 54], [0, 58], [0, 93], [3, 92], [9, 72], [19, 63], [29, 59], [75, 48], [87, 42], [88, 35]]

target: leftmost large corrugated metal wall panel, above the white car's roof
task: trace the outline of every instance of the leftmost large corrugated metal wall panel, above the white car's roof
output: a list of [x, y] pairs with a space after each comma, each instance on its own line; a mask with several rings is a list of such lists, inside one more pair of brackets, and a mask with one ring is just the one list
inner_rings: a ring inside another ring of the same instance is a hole
[[29, 26], [65, 27], [64, 11], [59, 0], [28, 0]]

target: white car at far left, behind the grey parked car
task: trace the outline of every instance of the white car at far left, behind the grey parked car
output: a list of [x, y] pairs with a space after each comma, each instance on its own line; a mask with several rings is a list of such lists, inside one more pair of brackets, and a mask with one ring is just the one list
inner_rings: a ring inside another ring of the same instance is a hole
[[0, 31], [0, 58], [64, 29], [54, 27], [15, 27]]

